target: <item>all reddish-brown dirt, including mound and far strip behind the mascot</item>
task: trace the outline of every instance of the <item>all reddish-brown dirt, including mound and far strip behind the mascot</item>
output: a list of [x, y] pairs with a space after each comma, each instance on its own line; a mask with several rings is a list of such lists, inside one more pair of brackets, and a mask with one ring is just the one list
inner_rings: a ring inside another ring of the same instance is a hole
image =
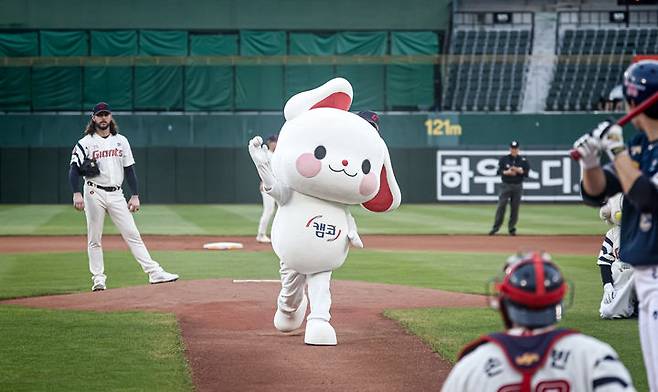
[[[242, 242], [266, 251], [252, 237], [145, 236], [153, 250], [202, 250], [206, 242]], [[506, 252], [543, 249], [596, 254], [599, 236], [363, 236], [369, 249]], [[105, 236], [106, 250], [126, 249]], [[0, 252], [83, 251], [83, 236], [0, 237]], [[243, 250], [243, 251], [244, 251]], [[164, 311], [176, 315], [193, 381], [199, 391], [430, 391], [439, 390], [450, 364], [382, 315], [385, 309], [480, 307], [477, 295], [364, 282], [332, 282], [332, 324], [339, 344], [312, 347], [303, 329], [289, 334], [272, 325], [279, 284], [231, 280], [178, 281], [104, 292], [14, 299], [3, 304], [79, 309]]]

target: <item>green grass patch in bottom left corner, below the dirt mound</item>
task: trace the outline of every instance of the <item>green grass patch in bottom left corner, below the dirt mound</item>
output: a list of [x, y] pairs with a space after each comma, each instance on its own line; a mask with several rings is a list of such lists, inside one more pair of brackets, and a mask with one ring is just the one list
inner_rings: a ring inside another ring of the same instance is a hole
[[176, 318], [0, 306], [2, 391], [192, 391]]

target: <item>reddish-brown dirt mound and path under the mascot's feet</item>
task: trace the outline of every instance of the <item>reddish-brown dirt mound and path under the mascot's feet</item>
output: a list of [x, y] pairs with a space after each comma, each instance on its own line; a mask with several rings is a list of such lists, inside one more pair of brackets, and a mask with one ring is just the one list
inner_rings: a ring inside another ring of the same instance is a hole
[[450, 365], [381, 312], [484, 305], [476, 295], [333, 281], [331, 322], [338, 346], [313, 347], [304, 345], [303, 330], [274, 329], [279, 288], [277, 282], [183, 280], [4, 303], [173, 312], [198, 390], [286, 392], [439, 390]]

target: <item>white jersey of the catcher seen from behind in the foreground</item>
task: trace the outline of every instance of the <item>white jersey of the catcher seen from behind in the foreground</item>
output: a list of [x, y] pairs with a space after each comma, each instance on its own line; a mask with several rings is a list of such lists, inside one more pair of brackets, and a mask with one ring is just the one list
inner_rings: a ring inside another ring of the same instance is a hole
[[[550, 346], [549, 346], [550, 347]], [[515, 360], [531, 361], [524, 353]], [[452, 369], [443, 392], [521, 392], [522, 375], [505, 352], [484, 343]], [[534, 374], [532, 392], [635, 391], [631, 376], [609, 345], [580, 333], [564, 336], [550, 348], [546, 362]]]

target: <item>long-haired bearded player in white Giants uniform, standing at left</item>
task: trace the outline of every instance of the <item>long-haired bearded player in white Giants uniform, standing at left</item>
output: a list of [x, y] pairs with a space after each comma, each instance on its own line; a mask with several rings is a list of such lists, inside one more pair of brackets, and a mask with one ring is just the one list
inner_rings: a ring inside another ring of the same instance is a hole
[[[140, 207], [134, 164], [128, 139], [117, 132], [109, 105], [105, 102], [96, 104], [85, 136], [73, 147], [69, 171], [73, 206], [79, 211], [84, 210], [87, 218], [92, 291], [106, 289], [101, 246], [106, 213], [121, 232], [137, 262], [149, 275], [150, 283], [178, 279], [178, 275], [166, 272], [151, 258], [130, 214]], [[84, 179], [83, 192], [80, 192], [81, 176]], [[128, 203], [121, 192], [124, 176], [133, 192]]]

